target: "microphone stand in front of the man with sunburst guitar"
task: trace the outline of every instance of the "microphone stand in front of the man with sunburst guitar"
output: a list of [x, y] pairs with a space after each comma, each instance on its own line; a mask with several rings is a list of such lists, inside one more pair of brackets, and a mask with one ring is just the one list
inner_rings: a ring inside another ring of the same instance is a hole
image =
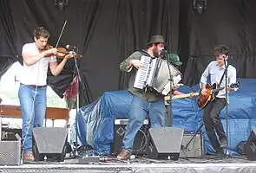
[[226, 57], [224, 58], [224, 64], [225, 64], [225, 97], [226, 97], [226, 157], [230, 157], [230, 153], [229, 153], [229, 135], [228, 135], [228, 130], [229, 130], [229, 115], [228, 115], [228, 106], [229, 106], [229, 98], [228, 98], [228, 91], [227, 91], [227, 61], [226, 61]]

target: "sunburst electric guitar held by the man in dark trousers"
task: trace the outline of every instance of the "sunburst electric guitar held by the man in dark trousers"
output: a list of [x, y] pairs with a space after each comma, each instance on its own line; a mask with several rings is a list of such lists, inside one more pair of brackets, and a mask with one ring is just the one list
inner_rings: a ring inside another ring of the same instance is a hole
[[[213, 101], [216, 98], [216, 95], [220, 92], [220, 90], [223, 90], [225, 86], [217, 87], [218, 85], [216, 83], [212, 85], [207, 84], [207, 94], [203, 95], [201, 92], [199, 94], [199, 98], [197, 99], [197, 105], [201, 108], [204, 108], [207, 106], [207, 103], [209, 101]], [[238, 88], [240, 86], [239, 82], [231, 84], [229, 87], [231, 88]]]

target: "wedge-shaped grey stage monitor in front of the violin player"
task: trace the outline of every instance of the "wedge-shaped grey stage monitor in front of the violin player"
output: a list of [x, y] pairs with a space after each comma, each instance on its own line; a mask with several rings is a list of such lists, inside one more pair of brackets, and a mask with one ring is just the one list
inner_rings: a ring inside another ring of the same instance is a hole
[[33, 154], [35, 161], [63, 162], [66, 156], [68, 130], [62, 127], [37, 127], [33, 129]]

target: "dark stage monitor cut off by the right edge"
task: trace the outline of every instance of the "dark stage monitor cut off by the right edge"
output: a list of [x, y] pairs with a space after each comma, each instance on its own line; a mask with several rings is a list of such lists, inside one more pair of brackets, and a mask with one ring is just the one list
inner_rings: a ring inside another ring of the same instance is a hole
[[253, 129], [246, 142], [245, 154], [248, 160], [256, 160], [256, 128]]

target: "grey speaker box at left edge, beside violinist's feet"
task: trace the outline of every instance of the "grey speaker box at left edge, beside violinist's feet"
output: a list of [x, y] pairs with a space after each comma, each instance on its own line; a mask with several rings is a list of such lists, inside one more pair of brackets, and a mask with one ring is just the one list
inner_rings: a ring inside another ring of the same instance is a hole
[[0, 165], [20, 165], [22, 144], [17, 141], [0, 141]]

